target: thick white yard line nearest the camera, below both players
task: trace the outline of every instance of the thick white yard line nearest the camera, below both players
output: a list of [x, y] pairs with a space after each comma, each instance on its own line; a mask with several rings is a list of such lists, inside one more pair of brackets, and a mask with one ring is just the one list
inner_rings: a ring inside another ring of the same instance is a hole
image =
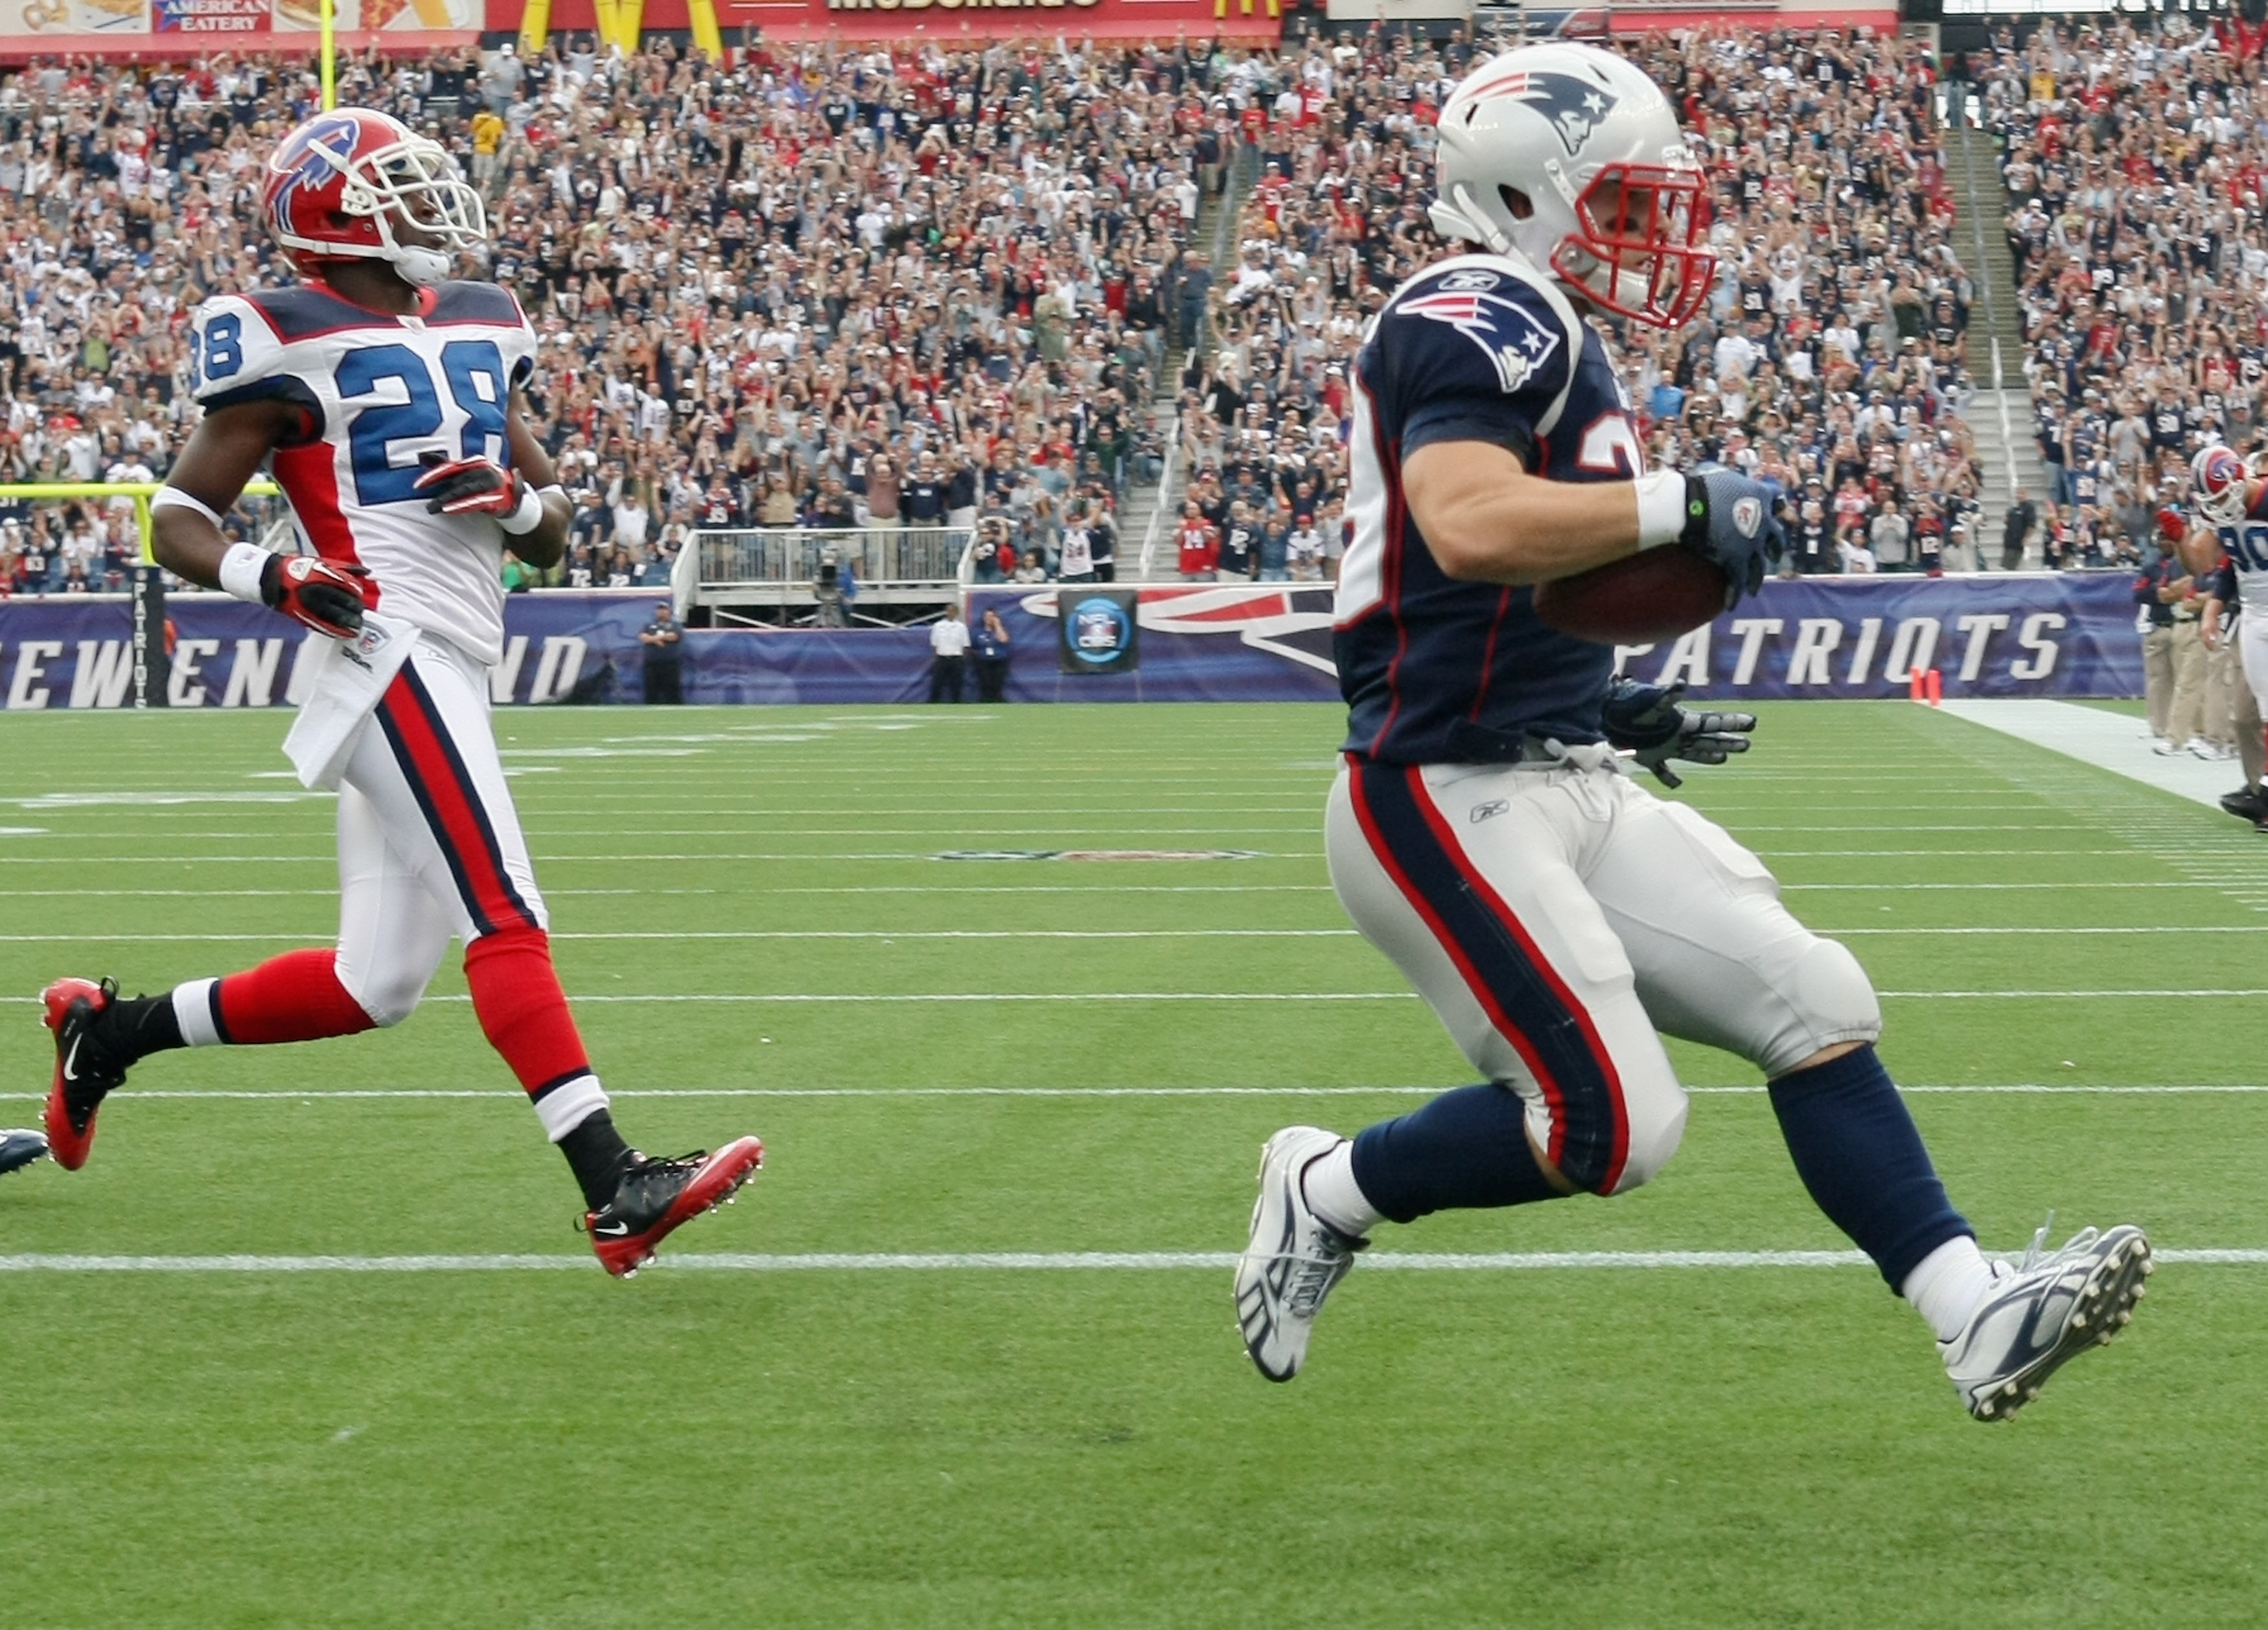
[[[2207, 1247], [2155, 1251], [2159, 1263], [2216, 1267], [2268, 1265], [2268, 1249]], [[0, 1274], [451, 1274], [451, 1272], [590, 1272], [594, 1256], [0, 1256]], [[1236, 1267], [1232, 1251], [812, 1251], [755, 1256], [680, 1251], [655, 1267], [737, 1274], [778, 1272], [968, 1272], [968, 1270], [1207, 1270]], [[1869, 1267], [1860, 1251], [1372, 1251], [1363, 1272], [1535, 1272], [1551, 1267]], [[651, 1270], [649, 1270], [651, 1272]]]

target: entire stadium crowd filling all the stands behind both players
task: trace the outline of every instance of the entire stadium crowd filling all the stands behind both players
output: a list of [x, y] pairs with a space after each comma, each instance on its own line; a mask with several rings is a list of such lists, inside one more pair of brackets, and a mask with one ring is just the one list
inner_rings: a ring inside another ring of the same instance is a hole
[[[2057, 564], [2118, 562], [2175, 451], [2259, 424], [2259, 68], [2168, 27], [2041, 29], [1978, 66]], [[1975, 564], [1975, 290], [1923, 45], [1721, 27], [1626, 50], [1710, 165], [1721, 256], [1685, 331], [1613, 326], [1649, 458], [1778, 481], [1792, 571]], [[696, 528], [733, 526], [839, 530], [862, 578], [900, 558], [882, 540], [934, 560], [962, 528], [984, 580], [1109, 576], [1127, 487], [1168, 456], [1152, 394], [1179, 406], [1179, 564], [1320, 578], [1352, 358], [1438, 249], [1431, 120], [1472, 57], [1368, 34], [726, 68], [569, 39], [349, 61], [340, 97], [440, 136], [490, 197], [576, 494], [551, 580], [662, 580]], [[193, 415], [188, 311], [281, 277], [252, 202], [313, 104], [302, 61], [259, 57], [0, 77], [0, 478], [163, 476]], [[1216, 268], [1198, 220], [1222, 190], [1243, 206]], [[122, 501], [0, 508], [0, 589], [116, 585], [132, 546]]]

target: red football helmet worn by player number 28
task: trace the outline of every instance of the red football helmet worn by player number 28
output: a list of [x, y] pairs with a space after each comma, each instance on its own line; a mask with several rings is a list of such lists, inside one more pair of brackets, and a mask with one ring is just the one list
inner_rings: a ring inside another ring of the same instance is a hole
[[[458, 254], [488, 243], [481, 195], [456, 159], [390, 113], [318, 113], [268, 159], [268, 231], [302, 277], [327, 261], [386, 261], [420, 288], [440, 283]], [[401, 243], [415, 229], [426, 243]]]

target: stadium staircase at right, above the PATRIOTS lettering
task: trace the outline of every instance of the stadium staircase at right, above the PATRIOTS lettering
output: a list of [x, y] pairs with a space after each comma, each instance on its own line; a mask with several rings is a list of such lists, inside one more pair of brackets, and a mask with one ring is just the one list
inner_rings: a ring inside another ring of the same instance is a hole
[[[2000, 521], [2023, 487], [2032, 503], [2046, 503], [2048, 472], [2032, 440], [2032, 394], [2023, 374], [2023, 308], [2016, 302], [2016, 256], [2009, 254], [2009, 199], [2000, 184], [2000, 163], [1989, 131], [1978, 129], [1969, 86], [1955, 84], [1946, 107], [1946, 168], [1960, 188], [1962, 218], [1957, 227], [1962, 258], [1978, 286], [1978, 304], [1969, 320], [1969, 376], [1975, 397], [1962, 415], [1978, 442], [1984, 490], [1984, 535], [1980, 558], [2000, 562]], [[2039, 564], [2041, 533], [2025, 544], [2025, 564]]]

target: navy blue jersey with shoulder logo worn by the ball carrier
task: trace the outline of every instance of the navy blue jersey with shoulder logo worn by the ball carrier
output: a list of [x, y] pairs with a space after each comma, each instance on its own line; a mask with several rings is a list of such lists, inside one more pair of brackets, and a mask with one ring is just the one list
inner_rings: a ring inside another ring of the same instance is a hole
[[1402, 501], [1402, 460], [1429, 442], [1492, 442], [1549, 481], [1635, 478], [1631, 401], [1599, 336], [1526, 263], [1465, 254], [1395, 290], [1354, 376], [1347, 750], [1488, 764], [1524, 735], [1599, 741], [1615, 653], [1538, 621], [1533, 589], [1447, 578]]

